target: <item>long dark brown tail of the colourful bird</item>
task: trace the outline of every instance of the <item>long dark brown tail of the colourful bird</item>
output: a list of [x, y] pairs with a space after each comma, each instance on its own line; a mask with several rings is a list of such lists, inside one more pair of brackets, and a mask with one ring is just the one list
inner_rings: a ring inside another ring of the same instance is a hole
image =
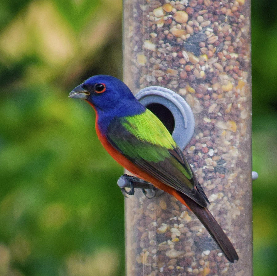
[[227, 235], [224, 233], [218, 222], [215, 220], [211, 212], [206, 208], [200, 206], [195, 201], [193, 201], [188, 196], [181, 194], [183, 200], [185, 200], [187, 206], [195, 213], [197, 218], [205, 226], [207, 231], [210, 233], [211, 237], [218, 244], [226, 258], [229, 262], [234, 262], [239, 259], [237, 252], [235, 251], [234, 246], [228, 239]]

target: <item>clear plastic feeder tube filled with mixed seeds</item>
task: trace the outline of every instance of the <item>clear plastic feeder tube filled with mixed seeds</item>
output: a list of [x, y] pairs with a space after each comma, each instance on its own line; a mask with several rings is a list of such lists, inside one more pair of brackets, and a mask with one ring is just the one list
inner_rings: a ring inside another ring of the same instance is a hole
[[239, 255], [229, 263], [174, 197], [136, 189], [125, 200], [126, 275], [252, 275], [250, 1], [123, 2], [124, 81], [190, 105], [184, 155]]

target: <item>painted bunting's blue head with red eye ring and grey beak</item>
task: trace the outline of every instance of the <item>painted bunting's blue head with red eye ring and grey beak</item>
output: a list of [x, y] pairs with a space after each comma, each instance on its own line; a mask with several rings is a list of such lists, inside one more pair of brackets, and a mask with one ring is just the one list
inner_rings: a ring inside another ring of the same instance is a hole
[[85, 99], [97, 112], [98, 123], [105, 125], [114, 117], [132, 116], [145, 111], [129, 87], [113, 76], [90, 77], [75, 87], [69, 97]]

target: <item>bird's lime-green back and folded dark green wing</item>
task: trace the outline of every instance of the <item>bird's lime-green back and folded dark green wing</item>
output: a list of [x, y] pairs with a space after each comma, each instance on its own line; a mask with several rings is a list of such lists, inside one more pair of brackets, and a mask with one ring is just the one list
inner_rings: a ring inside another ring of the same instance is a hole
[[182, 151], [151, 111], [113, 119], [106, 135], [114, 148], [140, 169], [207, 206], [207, 197]]

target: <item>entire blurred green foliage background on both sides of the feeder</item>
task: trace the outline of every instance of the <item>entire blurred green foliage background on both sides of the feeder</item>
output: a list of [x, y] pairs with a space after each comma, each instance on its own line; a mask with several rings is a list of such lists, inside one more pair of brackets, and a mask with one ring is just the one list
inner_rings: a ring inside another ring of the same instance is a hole
[[[252, 1], [254, 275], [276, 275], [277, 2]], [[0, 2], [0, 275], [124, 275], [122, 168], [67, 98], [122, 78], [120, 0]]]

